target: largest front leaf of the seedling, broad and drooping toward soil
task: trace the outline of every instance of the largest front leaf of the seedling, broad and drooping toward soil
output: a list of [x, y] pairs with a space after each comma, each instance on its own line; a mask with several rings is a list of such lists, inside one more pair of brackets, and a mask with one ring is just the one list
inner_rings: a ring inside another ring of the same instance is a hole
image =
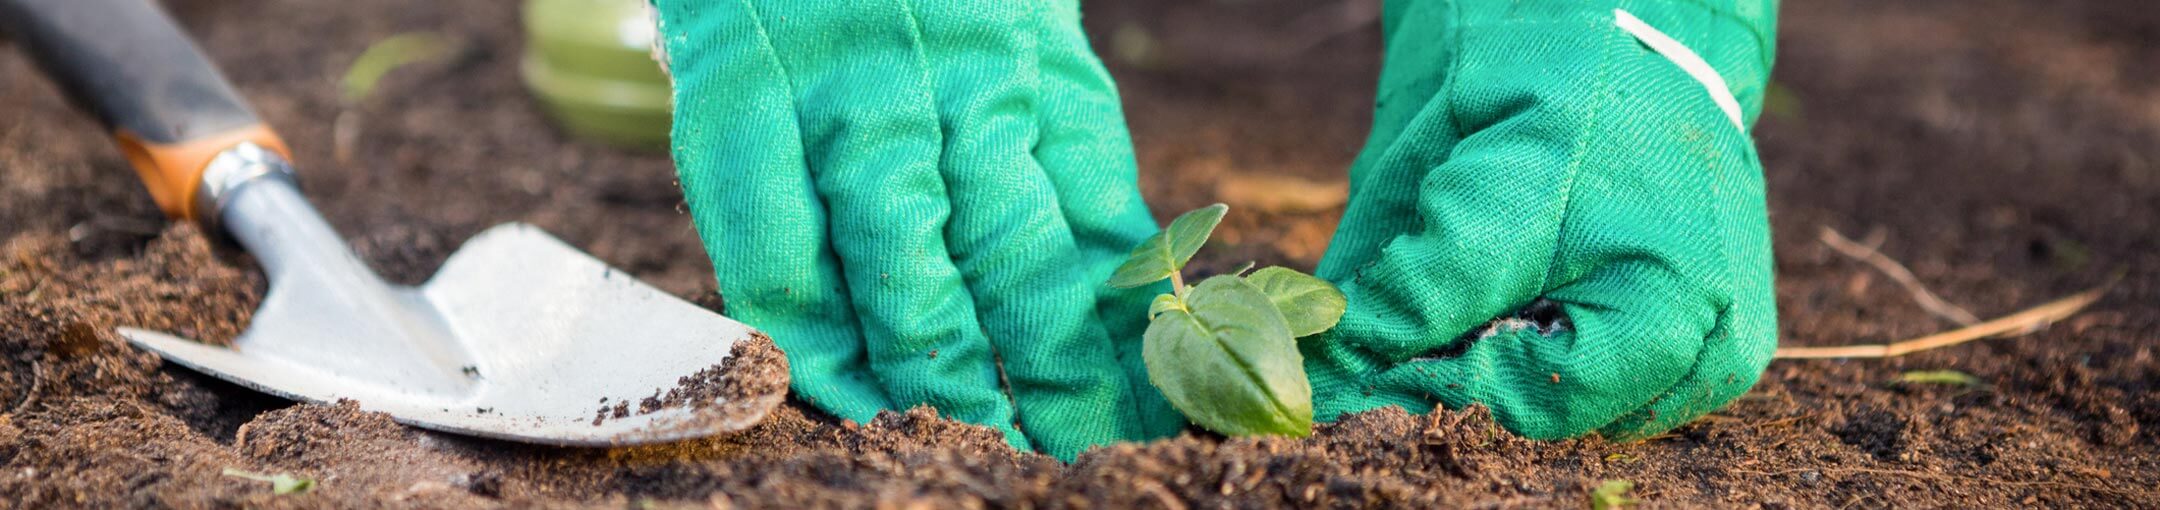
[[1231, 437], [1313, 432], [1313, 387], [1290, 324], [1233, 274], [1201, 281], [1147, 324], [1147, 380], [1192, 424]]

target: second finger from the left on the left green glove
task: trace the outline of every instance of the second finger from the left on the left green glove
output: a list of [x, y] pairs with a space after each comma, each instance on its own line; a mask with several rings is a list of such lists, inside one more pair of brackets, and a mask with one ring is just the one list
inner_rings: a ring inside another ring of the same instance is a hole
[[953, 205], [937, 171], [942, 132], [916, 13], [901, 0], [758, 11], [795, 86], [810, 175], [832, 214], [870, 372], [894, 404], [931, 404], [1026, 447], [944, 244]]

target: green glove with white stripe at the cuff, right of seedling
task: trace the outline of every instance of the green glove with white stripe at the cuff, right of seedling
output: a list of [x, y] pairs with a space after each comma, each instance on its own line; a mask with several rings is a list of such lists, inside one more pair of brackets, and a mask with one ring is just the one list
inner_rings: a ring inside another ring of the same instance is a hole
[[1631, 441], [1745, 393], [1778, 337], [1745, 132], [1773, 26], [1773, 0], [1389, 2], [1315, 415], [1482, 402]]

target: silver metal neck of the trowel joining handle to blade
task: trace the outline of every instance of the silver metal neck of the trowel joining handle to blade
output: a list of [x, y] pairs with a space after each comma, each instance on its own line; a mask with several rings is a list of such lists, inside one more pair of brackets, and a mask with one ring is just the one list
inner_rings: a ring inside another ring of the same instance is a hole
[[[197, 205], [207, 207], [203, 227], [231, 236], [270, 277], [270, 294], [294, 292], [315, 307], [279, 309], [287, 320], [322, 328], [372, 328], [389, 333], [432, 361], [445, 385], [469, 357], [449, 341], [447, 322], [417, 290], [391, 285], [361, 261], [320, 212], [300, 194], [292, 164], [253, 143], [225, 149], [203, 169]], [[266, 298], [266, 303], [276, 296]], [[266, 311], [257, 311], [266, 313]], [[393, 324], [354, 324], [393, 322]], [[276, 341], [276, 339], [264, 339]], [[430, 374], [430, 376], [434, 376]]]

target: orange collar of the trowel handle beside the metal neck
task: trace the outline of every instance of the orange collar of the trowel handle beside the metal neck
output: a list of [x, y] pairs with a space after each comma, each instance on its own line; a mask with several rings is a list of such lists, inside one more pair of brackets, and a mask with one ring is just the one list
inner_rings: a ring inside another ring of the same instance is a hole
[[143, 177], [143, 186], [149, 188], [149, 197], [158, 201], [158, 207], [166, 216], [181, 220], [199, 220], [201, 214], [210, 214], [199, 210], [194, 192], [203, 186], [203, 171], [210, 169], [210, 160], [218, 158], [225, 149], [240, 143], [255, 143], [292, 160], [292, 149], [285, 147], [285, 140], [276, 132], [270, 132], [270, 125], [261, 123], [184, 143], [151, 143], [127, 130], [114, 132], [112, 138], [119, 140], [121, 153], [127, 156], [127, 164]]

